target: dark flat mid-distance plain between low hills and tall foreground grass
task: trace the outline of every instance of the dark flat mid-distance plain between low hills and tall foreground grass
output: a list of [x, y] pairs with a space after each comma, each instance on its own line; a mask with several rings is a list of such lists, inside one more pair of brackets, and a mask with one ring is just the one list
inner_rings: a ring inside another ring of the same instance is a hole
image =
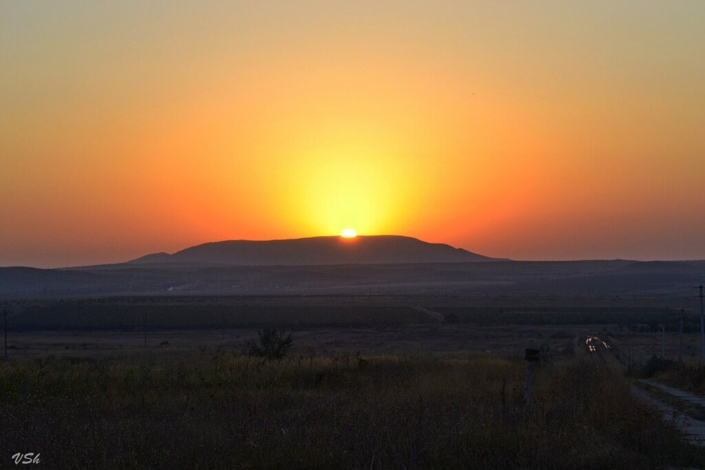
[[[11, 357], [49, 354], [124, 359], [143, 346], [173, 355], [201, 347], [240, 350], [257, 328], [294, 333], [298, 347], [328, 355], [424, 351], [450, 355], [519, 355], [525, 347], [570, 352], [577, 338], [599, 335], [641, 366], [661, 350], [678, 354], [676, 318], [692, 298], [508, 296], [233, 296], [15, 299], [10, 309]], [[699, 348], [689, 312], [685, 357]], [[697, 328], [696, 328], [697, 327]]]

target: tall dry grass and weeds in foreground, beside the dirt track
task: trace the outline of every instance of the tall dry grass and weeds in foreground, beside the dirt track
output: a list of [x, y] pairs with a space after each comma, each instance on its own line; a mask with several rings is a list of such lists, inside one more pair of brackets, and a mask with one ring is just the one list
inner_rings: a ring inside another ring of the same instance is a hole
[[704, 466], [701, 451], [582, 361], [343, 355], [0, 364], [2, 465], [47, 468]]

